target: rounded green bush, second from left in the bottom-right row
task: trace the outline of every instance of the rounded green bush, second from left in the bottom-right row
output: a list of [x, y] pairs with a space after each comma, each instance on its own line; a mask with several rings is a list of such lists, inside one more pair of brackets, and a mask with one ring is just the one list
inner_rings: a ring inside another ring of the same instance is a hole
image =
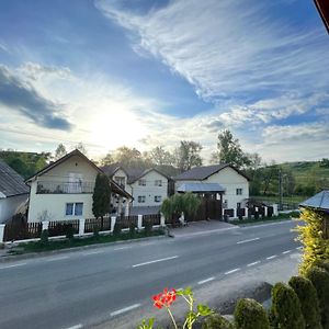
[[239, 299], [234, 315], [237, 329], [270, 329], [266, 311], [253, 299]]

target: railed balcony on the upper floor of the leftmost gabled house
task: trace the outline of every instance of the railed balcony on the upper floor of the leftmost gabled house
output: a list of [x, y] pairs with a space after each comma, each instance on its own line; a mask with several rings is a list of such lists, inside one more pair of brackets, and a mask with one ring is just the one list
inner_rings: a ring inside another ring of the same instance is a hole
[[37, 182], [36, 194], [93, 193], [94, 182]]

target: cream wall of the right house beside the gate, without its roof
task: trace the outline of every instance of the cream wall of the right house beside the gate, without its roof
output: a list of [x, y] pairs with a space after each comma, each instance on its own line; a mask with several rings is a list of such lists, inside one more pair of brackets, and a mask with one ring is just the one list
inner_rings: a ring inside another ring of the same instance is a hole
[[[174, 190], [184, 184], [184, 183], [218, 183], [224, 189], [226, 189], [225, 194], [223, 195], [223, 203], [227, 200], [228, 208], [236, 208], [237, 203], [241, 202], [243, 198], [249, 197], [249, 182], [248, 180], [239, 174], [236, 170], [230, 167], [226, 167], [218, 171], [217, 173], [212, 174], [206, 180], [203, 181], [177, 181], [174, 184]], [[237, 189], [242, 189], [242, 194], [237, 195]]]

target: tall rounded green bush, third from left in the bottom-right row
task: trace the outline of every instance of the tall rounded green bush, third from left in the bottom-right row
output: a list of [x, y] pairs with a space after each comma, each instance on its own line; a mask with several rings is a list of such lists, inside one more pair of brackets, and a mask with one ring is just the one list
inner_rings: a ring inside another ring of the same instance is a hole
[[305, 321], [299, 299], [294, 290], [281, 282], [272, 288], [272, 317], [274, 328], [304, 329]]

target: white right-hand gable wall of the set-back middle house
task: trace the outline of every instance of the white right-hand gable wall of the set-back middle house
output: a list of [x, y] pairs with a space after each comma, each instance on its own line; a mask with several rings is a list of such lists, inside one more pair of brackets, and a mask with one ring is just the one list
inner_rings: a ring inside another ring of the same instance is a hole
[[[140, 185], [139, 181], [144, 181], [145, 185]], [[159, 186], [160, 182], [161, 185]], [[162, 201], [168, 195], [168, 179], [159, 172], [152, 170], [146, 173], [143, 178], [140, 178], [133, 184], [131, 184], [131, 194], [134, 197], [134, 207], [160, 206], [162, 204]]]

